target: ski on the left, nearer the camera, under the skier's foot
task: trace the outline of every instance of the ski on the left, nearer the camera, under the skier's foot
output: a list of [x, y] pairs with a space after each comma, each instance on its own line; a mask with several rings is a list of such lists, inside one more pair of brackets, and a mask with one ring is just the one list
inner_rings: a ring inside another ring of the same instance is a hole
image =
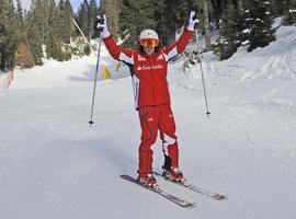
[[191, 201], [187, 201], [187, 200], [184, 200], [175, 195], [172, 195], [163, 189], [161, 189], [158, 185], [155, 186], [155, 187], [151, 187], [151, 186], [146, 186], [146, 185], [143, 185], [141, 183], [139, 183], [135, 177], [130, 176], [130, 175], [126, 175], [126, 174], [123, 174], [121, 175], [122, 178], [126, 180], [126, 181], [129, 181], [132, 183], [136, 183], [138, 184], [139, 186], [144, 187], [144, 188], [147, 188], [151, 192], [155, 192], [156, 194], [173, 201], [174, 204], [181, 206], [181, 207], [184, 207], [184, 208], [187, 208], [187, 207], [193, 207], [194, 206], [194, 203], [191, 203]]

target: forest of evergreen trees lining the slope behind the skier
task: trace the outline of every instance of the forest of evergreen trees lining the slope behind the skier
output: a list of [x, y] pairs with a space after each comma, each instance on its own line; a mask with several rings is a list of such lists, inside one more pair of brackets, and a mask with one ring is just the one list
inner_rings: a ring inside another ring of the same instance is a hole
[[[77, 11], [69, 0], [32, 0], [29, 10], [21, 0], [0, 0], [0, 69], [89, 55], [92, 48], [73, 20], [88, 41], [96, 39], [99, 14], [106, 14], [111, 33], [124, 47], [137, 49], [144, 28], [156, 30], [167, 47], [186, 25], [190, 11], [201, 21], [196, 28], [205, 36], [203, 51], [213, 50], [220, 60], [242, 45], [251, 51], [275, 41], [276, 18], [282, 18], [281, 25], [296, 25], [296, 0], [84, 0]], [[216, 41], [213, 33], [218, 33]]]

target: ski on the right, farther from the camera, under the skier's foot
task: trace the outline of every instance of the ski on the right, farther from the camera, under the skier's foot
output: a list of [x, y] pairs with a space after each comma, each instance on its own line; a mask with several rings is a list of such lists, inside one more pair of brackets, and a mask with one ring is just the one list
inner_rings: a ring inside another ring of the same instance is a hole
[[169, 181], [169, 182], [171, 182], [171, 183], [174, 183], [174, 184], [177, 184], [177, 185], [181, 185], [181, 186], [183, 186], [183, 187], [185, 187], [185, 188], [189, 188], [189, 189], [191, 189], [191, 191], [194, 191], [194, 192], [196, 192], [196, 193], [200, 193], [200, 194], [202, 194], [202, 195], [205, 195], [205, 196], [207, 196], [207, 197], [210, 197], [210, 198], [213, 198], [213, 199], [215, 199], [215, 200], [227, 199], [227, 195], [223, 195], [223, 194], [219, 194], [219, 193], [215, 193], [215, 192], [208, 191], [208, 189], [206, 189], [206, 188], [203, 188], [203, 187], [193, 185], [193, 184], [191, 184], [191, 183], [187, 183], [186, 180], [185, 180], [184, 182], [179, 182], [179, 181], [173, 181], [173, 180], [171, 180], [171, 178], [169, 178], [169, 177], [166, 177], [164, 175], [162, 175], [162, 174], [160, 174], [160, 173], [158, 173], [158, 172], [155, 172], [155, 171], [153, 171], [153, 174], [155, 174], [155, 175], [158, 175], [158, 176], [161, 176], [161, 177], [163, 177], [164, 180], [167, 180], [167, 181]]

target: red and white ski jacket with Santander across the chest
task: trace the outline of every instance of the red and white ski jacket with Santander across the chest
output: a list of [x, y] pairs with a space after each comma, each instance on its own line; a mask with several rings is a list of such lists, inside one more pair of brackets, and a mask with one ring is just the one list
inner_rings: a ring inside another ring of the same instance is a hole
[[129, 67], [137, 110], [140, 106], [170, 104], [167, 62], [185, 50], [192, 35], [193, 32], [184, 30], [175, 44], [151, 56], [139, 50], [126, 50], [117, 46], [111, 36], [104, 38], [111, 56]]

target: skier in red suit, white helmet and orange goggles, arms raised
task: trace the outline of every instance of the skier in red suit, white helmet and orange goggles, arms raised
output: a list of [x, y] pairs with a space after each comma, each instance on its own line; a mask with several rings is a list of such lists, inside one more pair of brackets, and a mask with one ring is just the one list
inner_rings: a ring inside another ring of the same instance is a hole
[[111, 56], [129, 67], [136, 110], [141, 127], [141, 142], [138, 149], [138, 181], [147, 186], [157, 184], [152, 175], [152, 149], [158, 130], [164, 154], [163, 175], [182, 181], [179, 170], [179, 148], [175, 136], [175, 123], [171, 110], [167, 82], [168, 61], [185, 50], [197, 19], [191, 12], [187, 25], [181, 37], [168, 48], [159, 48], [159, 37], [153, 30], [144, 30], [139, 35], [139, 49], [127, 50], [116, 45], [106, 24], [106, 16], [96, 23], [98, 30]]

